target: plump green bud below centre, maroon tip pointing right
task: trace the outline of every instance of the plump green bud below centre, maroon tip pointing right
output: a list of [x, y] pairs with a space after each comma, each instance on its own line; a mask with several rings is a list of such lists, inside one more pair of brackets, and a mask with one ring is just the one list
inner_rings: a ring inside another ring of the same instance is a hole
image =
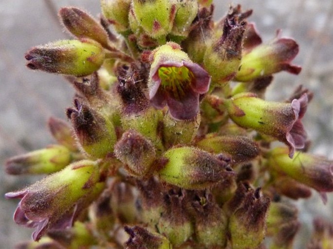
[[159, 178], [182, 188], [203, 189], [234, 177], [226, 162], [201, 149], [169, 149], [163, 157], [166, 163], [158, 172]]

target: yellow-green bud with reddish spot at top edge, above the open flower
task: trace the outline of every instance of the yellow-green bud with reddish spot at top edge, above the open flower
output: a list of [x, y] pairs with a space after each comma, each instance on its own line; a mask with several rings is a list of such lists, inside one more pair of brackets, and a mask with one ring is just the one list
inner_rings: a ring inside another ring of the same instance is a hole
[[175, 4], [169, 0], [133, 0], [134, 16], [140, 27], [153, 38], [163, 38], [172, 30]]

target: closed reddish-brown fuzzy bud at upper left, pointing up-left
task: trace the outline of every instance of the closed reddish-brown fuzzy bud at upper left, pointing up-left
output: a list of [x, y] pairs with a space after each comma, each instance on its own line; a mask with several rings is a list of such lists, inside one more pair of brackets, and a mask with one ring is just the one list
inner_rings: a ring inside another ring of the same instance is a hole
[[108, 47], [108, 36], [105, 29], [88, 13], [75, 8], [64, 7], [59, 11], [59, 17], [66, 29], [77, 38], [89, 38]]

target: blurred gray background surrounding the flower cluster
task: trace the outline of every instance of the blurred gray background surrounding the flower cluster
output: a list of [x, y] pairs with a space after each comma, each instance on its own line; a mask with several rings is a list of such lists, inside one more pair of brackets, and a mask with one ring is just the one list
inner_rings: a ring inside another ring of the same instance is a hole
[[[228, 10], [228, 0], [216, 0], [215, 17]], [[252, 8], [249, 18], [257, 24], [263, 40], [282, 29], [294, 37], [300, 53], [294, 60], [302, 65], [298, 77], [280, 73], [269, 87], [267, 99], [284, 100], [303, 84], [315, 92], [304, 117], [313, 140], [312, 151], [333, 159], [333, 0], [239, 0]], [[4, 173], [6, 158], [53, 143], [46, 122], [50, 116], [65, 118], [73, 90], [60, 76], [25, 67], [24, 53], [31, 47], [69, 37], [57, 21], [57, 9], [73, 5], [96, 16], [95, 0], [1, 0], [0, 1], [0, 248], [10, 249], [29, 239], [31, 230], [14, 224], [12, 216], [18, 201], [5, 200], [4, 193], [17, 190], [38, 178], [12, 177]], [[312, 217], [321, 215], [333, 221], [333, 195], [324, 206], [318, 195], [297, 201], [302, 210], [302, 232], [297, 249], [303, 249], [311, 232]]]

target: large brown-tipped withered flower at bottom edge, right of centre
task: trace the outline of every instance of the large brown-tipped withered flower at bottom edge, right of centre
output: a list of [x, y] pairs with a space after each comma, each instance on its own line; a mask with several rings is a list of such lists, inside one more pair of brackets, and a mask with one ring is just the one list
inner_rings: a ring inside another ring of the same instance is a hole
[[240, 206], [229, 218], [232, 249], [257, 249], [263, 242], [269, 202], [260, 189], [245, 193]]

